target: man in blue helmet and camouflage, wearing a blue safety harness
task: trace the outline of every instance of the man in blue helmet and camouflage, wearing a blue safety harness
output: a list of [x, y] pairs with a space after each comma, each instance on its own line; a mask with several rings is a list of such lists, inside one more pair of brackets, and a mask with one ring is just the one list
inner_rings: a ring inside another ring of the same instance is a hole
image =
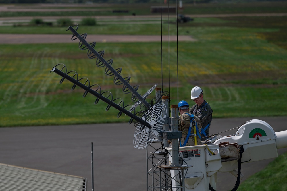
[[[200, 131], [202, 123], [197, 116], [192, 115], [189, 110], [189, 105], [182, 100], [178, 103], [178, 111], [180, 113], [178, 130], [182, 131], [180, 146], [200, 145]], [[196, 132], [196, 133], [195, 133]], [[195, 138], [196, 137], [196, 141]]]

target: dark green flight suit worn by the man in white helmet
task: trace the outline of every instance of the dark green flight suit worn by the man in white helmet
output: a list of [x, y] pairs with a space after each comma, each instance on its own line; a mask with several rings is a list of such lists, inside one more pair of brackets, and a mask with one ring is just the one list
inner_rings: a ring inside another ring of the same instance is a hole
[[[204, 129], [212, 121], [212, 109], [210, 105], [204, 100], [201, 105], [193, 105], [189, 110], [193, 115], [196, 115], [202, 122], [202, 128]], [[207, 136], [209, 136], [209, 127], [205, 130]], [[201, 134], [201, 137], [205, 137], [204, 134]], [[201, 140], [205, 140], [203, 138]]]

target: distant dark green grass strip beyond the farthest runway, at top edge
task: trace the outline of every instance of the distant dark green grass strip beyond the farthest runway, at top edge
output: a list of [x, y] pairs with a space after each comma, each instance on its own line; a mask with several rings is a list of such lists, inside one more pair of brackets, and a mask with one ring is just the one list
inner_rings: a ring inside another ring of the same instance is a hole
[[[70, 8], [55, 8], [59, 11], [34, 11], [34, 12], [0, 12], [0, 17], [16, 17], [16, 16], [122, 16], [122, 15], [150, 15], [151, 6], [160, 6], [160, 3], [130, 3], [130, 4], [106, 4], [102, 6], [86, 7], [79, 5], [76, 11], [67, 11]], [[168, 6], [162, 4], [162, 6]], [[170, 4], [169, 6], [176, 6]], [[266, 1], [266, 2], [233, 2], [233, 3], [197, 3], [197, 5], [183, 4], [184, 9], [180, 12], [184, 14], [235, 14], [235, 13], [286, 13], [287, 7], [285, 1]], [[19, 6], [18, 7], [24, 7]], [[32, 6], [33, 7], [33, 6]], [[34, 9], [49, 9], [46, 7], [34, 6]], [[51, 9], [51, 8], [50, 8]], [[72, 9], [75, 9], [74, 7]], [[63, 11], [64, 10], [64, 11]], [[113, 13], [113, 10], [128, 10], [128, 13]], [[160, 13], [153, 13], [158, 15]], [[167, 13], [163, 13], [167, 15]], [[174, 13], [171, 13], [174, 14]]]

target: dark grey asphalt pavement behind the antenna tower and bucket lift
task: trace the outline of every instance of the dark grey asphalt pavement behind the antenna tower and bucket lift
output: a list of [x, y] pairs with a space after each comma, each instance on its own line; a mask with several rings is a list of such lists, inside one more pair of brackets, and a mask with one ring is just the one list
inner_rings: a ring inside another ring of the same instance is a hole
[[[241, 126], [253, 118], [213, 119], [211, 134]], [[287, 117], [256, 118], [275, 132], [287, 130]], [[91, 142], [97, 191], [145, 191], [146, 150], [133, 147], [135, 128], [127, 123], [0, 128], [0, 163], [88, 178], [91, 190]], [[221, 133], [222, 136], [236, 131]], [[279, 149], [284, 153], [287, 149]], [[243, 181], [273, 159], [242, 164]], [[231, 190], [236, 178], [218, 173], [217, 190]]]

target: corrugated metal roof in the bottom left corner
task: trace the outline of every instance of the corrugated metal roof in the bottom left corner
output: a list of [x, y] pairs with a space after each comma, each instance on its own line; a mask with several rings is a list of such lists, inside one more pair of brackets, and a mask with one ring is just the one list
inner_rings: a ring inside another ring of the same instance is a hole
[[0, 163], [1, 191], [86, 191], [86, 178]]

